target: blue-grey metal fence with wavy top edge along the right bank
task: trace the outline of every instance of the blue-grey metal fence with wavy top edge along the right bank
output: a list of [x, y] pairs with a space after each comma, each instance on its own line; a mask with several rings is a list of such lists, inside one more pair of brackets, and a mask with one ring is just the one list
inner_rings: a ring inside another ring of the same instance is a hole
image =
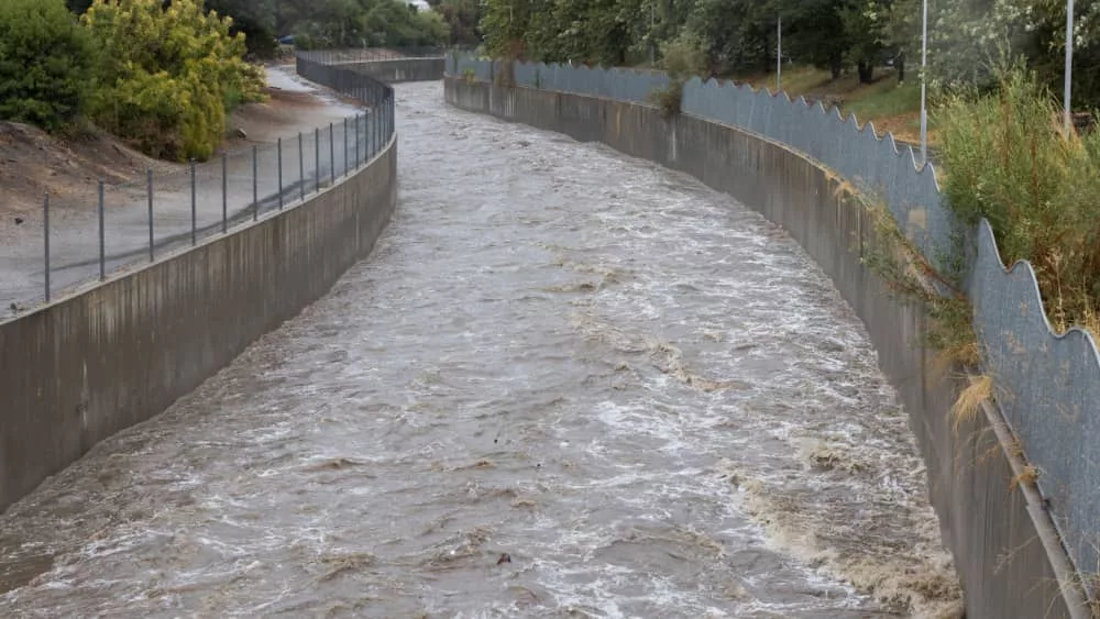
[[[463, 54], [451, 54], [446, 63], [449, 75], [481, 81], [492, 80], [501, 67]], [[513, 75], [519, 86], [636, 102], [662, 84], [649, 73], [568, 65], [516, 63]], [[944, 205], [933, 166], [919, 165], [911, 146], [899, 147], [890, 134], [879, 136], [871, 123], [860, 126], [854, 115], [843, 118], [835, 108], [801, 97], [698, 78], [684, 86], [682, 110], [788, 144], [881, 196], [936, 264], [953, 258], [956, 233], [976, 240], [965, 250], [967, 287], [998, 405], [1040, 469], [1037, 484], [1070, 556], [1094, 572], [1100, 565], [1100, 354], [1086, 331], [1053, 331], [1032, 266], [1021, 262], [1007, 268], [988, 222], [960, 229]]]

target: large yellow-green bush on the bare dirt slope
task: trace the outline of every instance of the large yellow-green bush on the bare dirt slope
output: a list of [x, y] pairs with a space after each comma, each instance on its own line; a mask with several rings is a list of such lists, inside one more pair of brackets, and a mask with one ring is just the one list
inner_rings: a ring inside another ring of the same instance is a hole
[[244, 35], [200, 0], [95, 0], [82, 18], [100, 54], [95, 120], [144, 153], [210, 157], [227, 110], [263, 97]]

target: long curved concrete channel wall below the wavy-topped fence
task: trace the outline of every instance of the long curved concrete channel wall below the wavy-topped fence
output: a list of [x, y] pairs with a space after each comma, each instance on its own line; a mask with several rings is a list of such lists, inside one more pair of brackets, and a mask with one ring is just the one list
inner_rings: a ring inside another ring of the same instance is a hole
[[1074, 612], [1059, 590], [1060, 549], [1045, 545], [1041, 506], [1013, 489], [1012, 460], [992, 414], [955, 428], [947, 411], [959, 385], [936, 375], [922, 341], [925, 317], [890, 299], [862, 264], [873, 242], [864, 209], [834, 194], [836, 181], [801, 154], [697, 118], [661, 119], [630, 102], [448, 77], [447, 100], [689, 173], [783, 225], [855, 308], [899, 391], [928, 468], [932, 502], [966, 589], [968, 617], [1053, 618]]

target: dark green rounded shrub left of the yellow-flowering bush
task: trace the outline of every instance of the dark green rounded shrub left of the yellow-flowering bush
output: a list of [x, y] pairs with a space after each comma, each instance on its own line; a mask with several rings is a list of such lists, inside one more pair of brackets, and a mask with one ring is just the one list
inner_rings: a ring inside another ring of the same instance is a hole
[[63, 0], [0, 0], [0, 119], [55, 131], [82, 111], [90, 46]]

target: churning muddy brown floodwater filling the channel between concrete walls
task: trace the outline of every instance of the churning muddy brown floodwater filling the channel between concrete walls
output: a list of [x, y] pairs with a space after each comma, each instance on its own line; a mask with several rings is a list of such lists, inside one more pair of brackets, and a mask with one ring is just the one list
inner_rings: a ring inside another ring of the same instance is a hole
[[396, 89], [371, 259], [13, 505], [0, 614], [959, 611], [905, 414], [781, 229]]

